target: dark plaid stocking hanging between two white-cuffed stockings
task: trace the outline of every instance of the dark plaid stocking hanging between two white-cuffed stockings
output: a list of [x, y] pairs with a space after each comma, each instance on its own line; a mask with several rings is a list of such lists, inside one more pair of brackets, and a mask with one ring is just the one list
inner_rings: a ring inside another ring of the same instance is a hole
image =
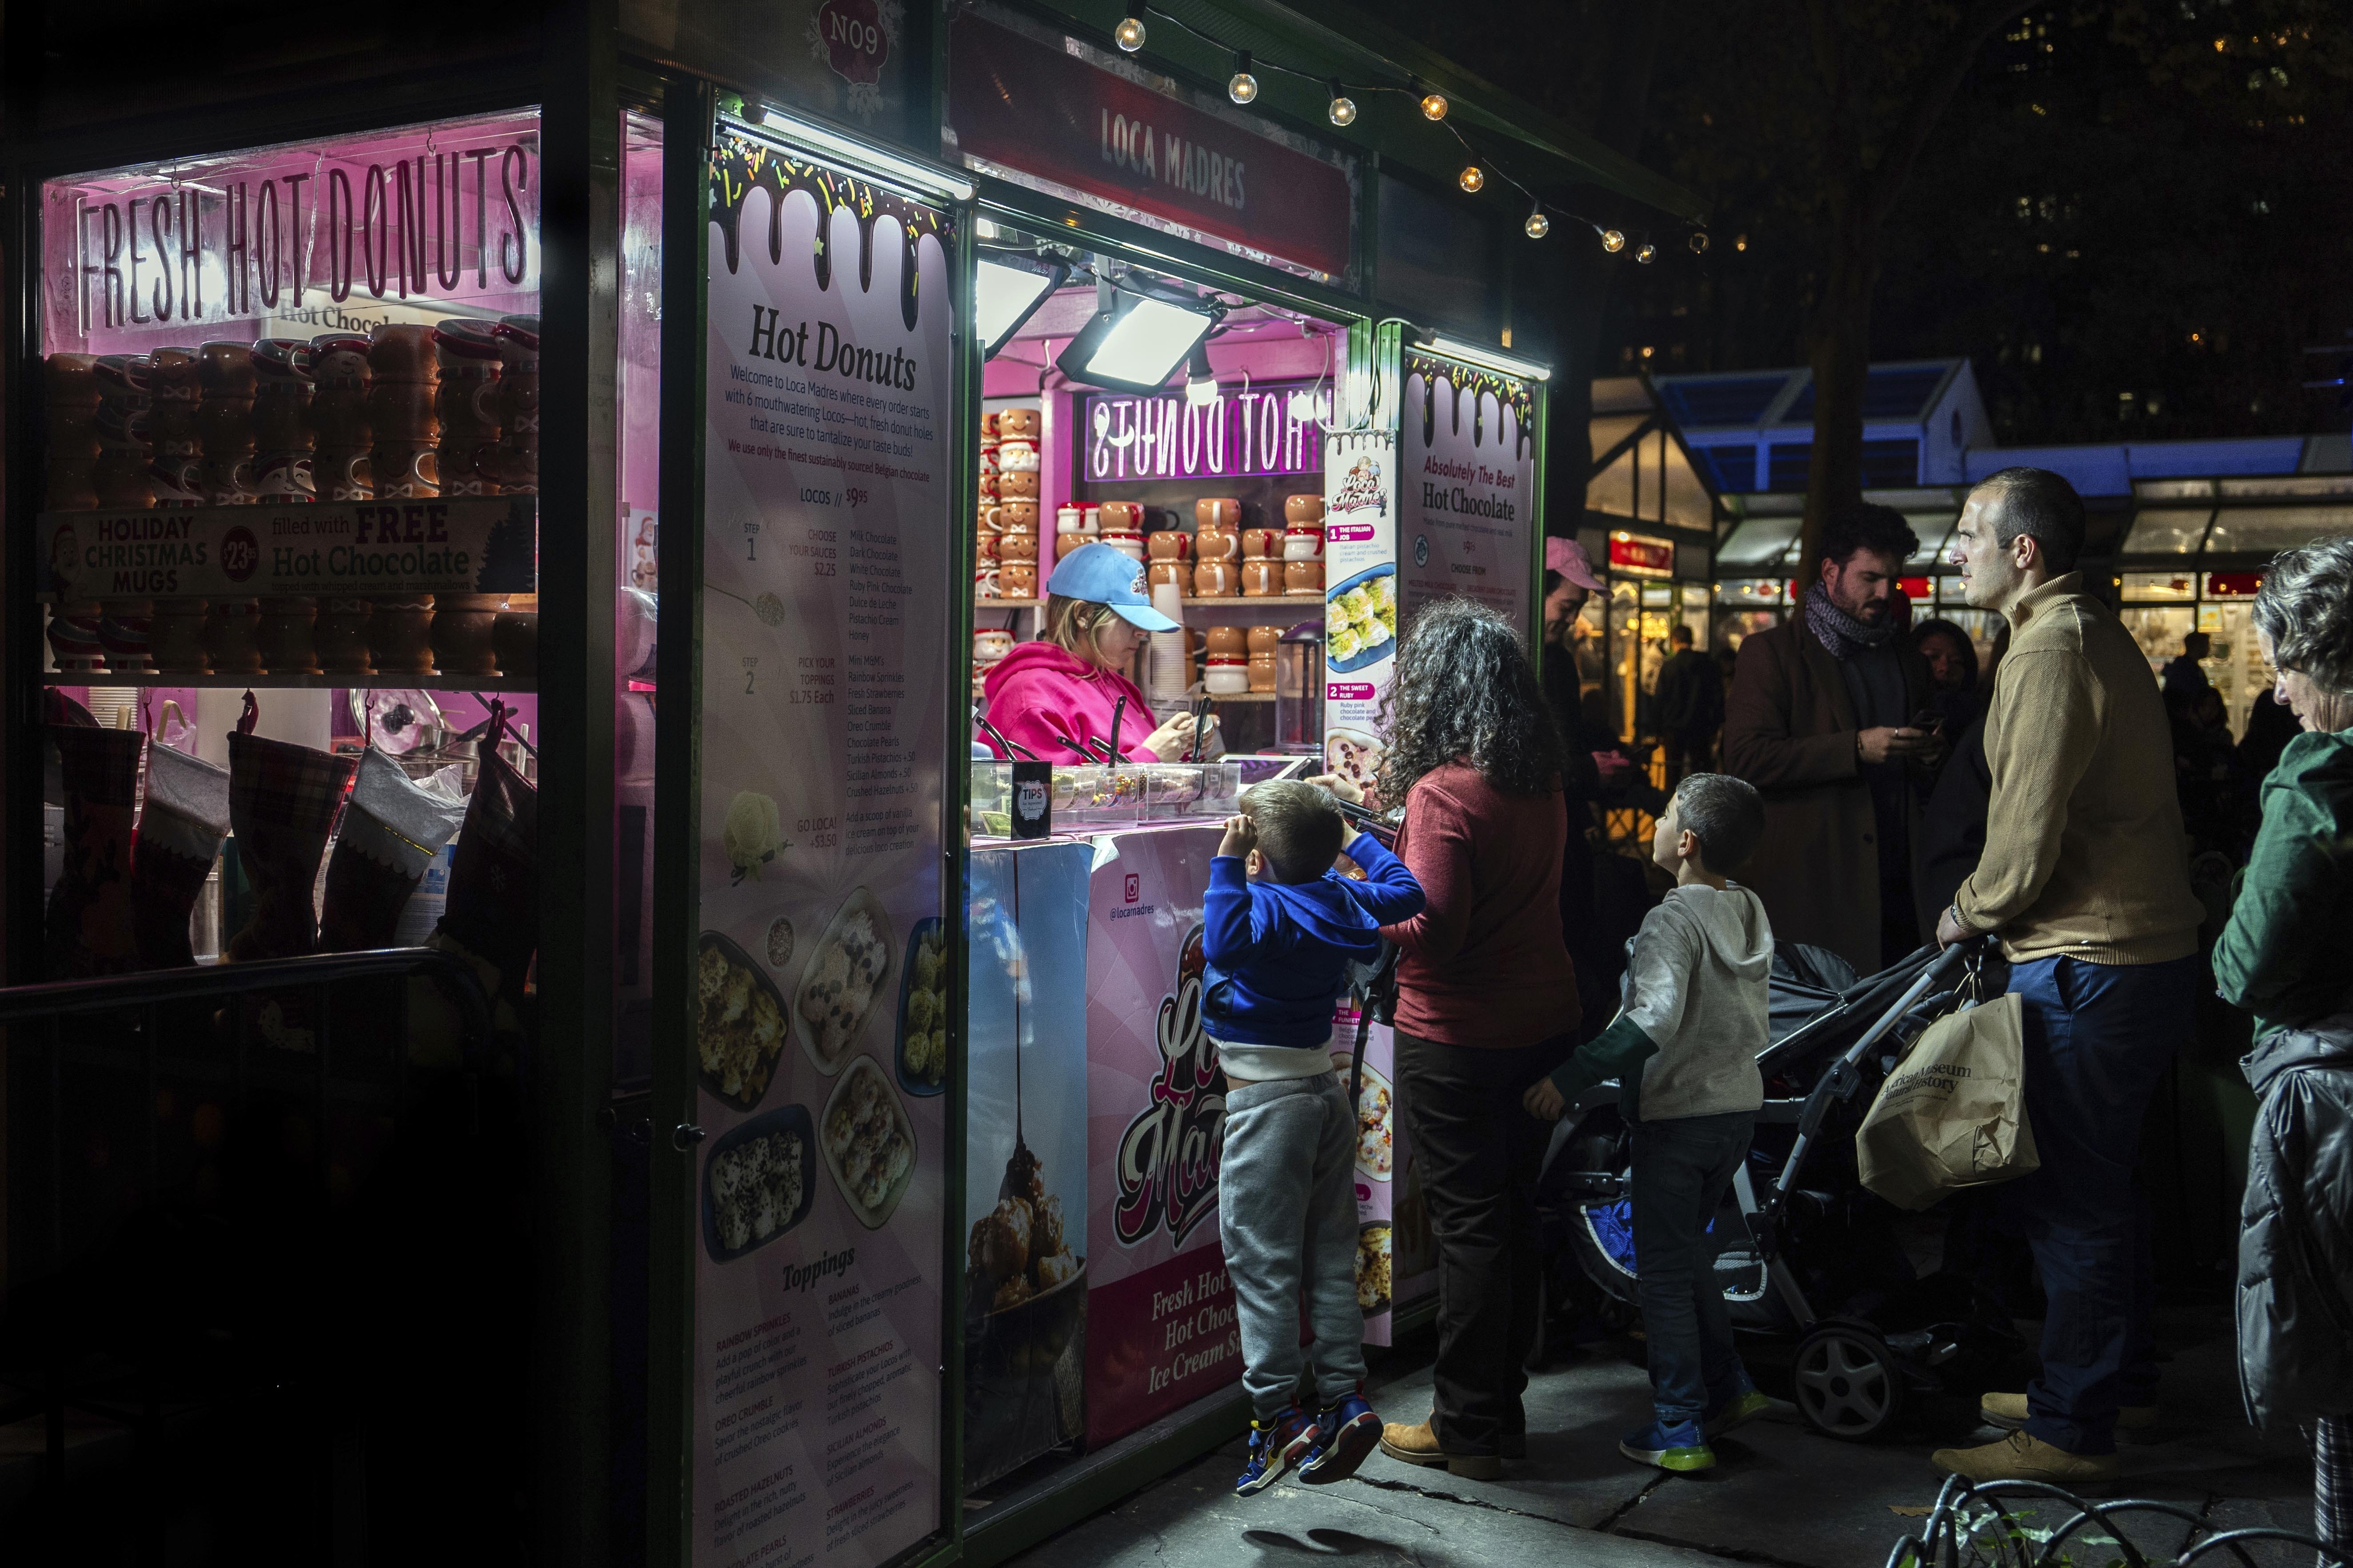
[[249, 733], [252, 724], [247, 708], [238, 733], [228, 736], [228, 818], [238, 863], [254, 886], [254, 912], [221, 957], [296, 959], [318, 952], [311, 891], [355, 764], [308, 745], [264, 741]]

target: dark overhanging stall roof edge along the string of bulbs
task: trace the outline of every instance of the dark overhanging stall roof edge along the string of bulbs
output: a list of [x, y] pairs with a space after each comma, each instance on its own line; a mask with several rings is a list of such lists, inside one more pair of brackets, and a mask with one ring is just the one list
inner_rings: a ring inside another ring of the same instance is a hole
[[[1445, 127], [1421, 118], [1409, 92], [1351, 94], [1358, 103], [1355, 125], [1334, 132], [1325, 118], [1329, 80], [1339, 78], [1351, 87], [1405, 87], [1407, 80], [1419, 80], [1435, 87], [1447, 96], [1449, 122], [1511, 179], [1539, 193], [1598, 186], [1692, 223], [1704, 219], [1704, 205], [1692, 190], [1346, 5], [1318, 2], [1311, 14], [1273, 0], [1061, 0], [1045, 9], [1096, 35], [1111, 35], [1122, 16], [1139, 16], [1146, 24], [1144, 59], [1158, 56], [1205, 82], [1231, 78], [1235, 49], [1249, 49], [1252, 75], [1259, 80], [1254, 108], [1447, 186], [1464, 167], [1464, 148]], [[1494, 188], [1508, 195], [1501, 181]], [[1525, 202], [1511, 216], [1525, 216]]]

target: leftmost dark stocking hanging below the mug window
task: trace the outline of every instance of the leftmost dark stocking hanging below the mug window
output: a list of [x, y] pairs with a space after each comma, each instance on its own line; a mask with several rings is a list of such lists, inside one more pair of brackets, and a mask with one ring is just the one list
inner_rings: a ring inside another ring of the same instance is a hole
[[66, 872], [49, 889], [49, 978], [139, 969], [132, 929], [132, 823], [139, 809], [136, 729], [49, 724], [66, 799]]

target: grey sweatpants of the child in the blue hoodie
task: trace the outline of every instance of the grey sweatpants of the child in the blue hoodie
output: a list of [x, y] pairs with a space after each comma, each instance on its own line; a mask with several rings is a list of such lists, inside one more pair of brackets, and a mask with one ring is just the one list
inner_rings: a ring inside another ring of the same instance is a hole
[[1259, 1420], [1299, 1392], [1299, 1295], [1315, 1342], [1318, 1403], [1365, 1378], [1365, 1314], [1355, 1305], [1355, 1114], [1337, 1072], [1228, 1084], [1226, 1152], [1217, 1171], [1242, 1387]]

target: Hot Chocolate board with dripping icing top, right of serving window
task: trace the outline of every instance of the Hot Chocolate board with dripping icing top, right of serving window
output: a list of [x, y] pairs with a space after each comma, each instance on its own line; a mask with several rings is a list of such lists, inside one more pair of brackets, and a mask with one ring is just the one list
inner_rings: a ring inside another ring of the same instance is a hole
[[1435, 355], [1405, 360], [1398, 578], [1405, 616], [1464, 595], [1529, 625], [1534, 395], [1525, 381]]

